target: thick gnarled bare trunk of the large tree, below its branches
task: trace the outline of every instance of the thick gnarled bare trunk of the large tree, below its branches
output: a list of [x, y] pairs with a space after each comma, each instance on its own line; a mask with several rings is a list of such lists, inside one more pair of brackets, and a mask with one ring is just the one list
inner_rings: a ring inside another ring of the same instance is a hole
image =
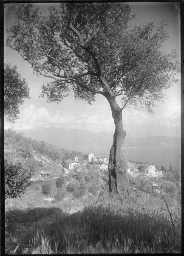
[[[126, 132], [123, 129], [122, 123], [122, 110], [119, 108], [116, 99], [112, 96], [107, 97], [110, 103], [112, 116], [115, 124], [115, 132], [113, 136], [113, 145], [110, 148], [109, 156], [109, 192], [111, 193], [113, 187], [116, 192], [118, 188], [123, 186], [122, 179], [126, 177], [127, 165], [123, 156], [123, 143], [125, 140]], [[113, 177], [113, 180], [112, 180]], [[113, 185], [114, 184], [114, 185]]]

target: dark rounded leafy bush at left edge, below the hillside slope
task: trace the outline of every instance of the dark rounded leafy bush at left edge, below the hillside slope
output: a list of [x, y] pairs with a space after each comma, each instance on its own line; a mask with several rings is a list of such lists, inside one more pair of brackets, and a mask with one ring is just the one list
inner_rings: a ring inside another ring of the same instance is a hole
[[25, 192], [30, 178], [21, 163], [14, 165], [5, 160], [5, 198], [17, 198]]

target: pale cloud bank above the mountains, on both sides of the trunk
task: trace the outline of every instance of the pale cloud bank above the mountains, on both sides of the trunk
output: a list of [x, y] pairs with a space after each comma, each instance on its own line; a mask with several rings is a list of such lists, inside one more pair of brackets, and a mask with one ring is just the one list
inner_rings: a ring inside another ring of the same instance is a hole
[[[152, 135], [171, 135], [180, 133], [180, 105], [171, 106], [167, 112], [149, 113], [142, 110], [126, 109], [122, 112], [124, 129], [127, 137], [147, 137]], [[14, 124], [5, 122], [5, 128], [34, 129], [43, 127], [63, 127], [82, 129], [93, 132], [114, 132], [115, 125], [109, 113], [72, 115], [67, 111], [51, 111], [29, 105], [23, 108], [20, 119]]]

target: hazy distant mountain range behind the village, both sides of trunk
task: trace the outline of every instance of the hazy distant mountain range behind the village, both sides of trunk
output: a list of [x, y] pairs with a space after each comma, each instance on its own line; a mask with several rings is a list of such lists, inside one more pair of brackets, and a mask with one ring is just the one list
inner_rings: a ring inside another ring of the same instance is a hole
[[[44, 140], [59, 147], [83, 153], [88, 151], [88, 148], [110, 149], [113, 144], [113, 134], [110, 132], [93, 133], [86, 130], [51, 127], [17, 130], [17, 132], [35, 140]], [[135, 139], [126, 137], [124, 142], [124, 148], [176, 145], [181, 145], [181, 137], [153, 136]]]

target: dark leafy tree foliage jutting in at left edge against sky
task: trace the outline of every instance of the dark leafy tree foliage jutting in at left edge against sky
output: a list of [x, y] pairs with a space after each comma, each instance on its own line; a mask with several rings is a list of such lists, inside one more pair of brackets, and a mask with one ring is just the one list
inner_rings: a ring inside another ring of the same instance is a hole
[[19, 106], [29, 97], [28, 83], [21, 78], [17, 67], [5, 64], [4, 67], [4, 111], [9, 122], [14, 122], [20, 113]]

